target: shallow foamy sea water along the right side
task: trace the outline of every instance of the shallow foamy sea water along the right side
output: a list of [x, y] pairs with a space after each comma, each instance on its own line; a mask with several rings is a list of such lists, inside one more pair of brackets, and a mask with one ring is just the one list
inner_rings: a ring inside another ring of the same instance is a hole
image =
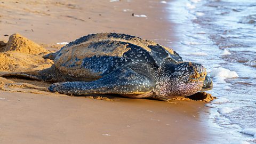
[[179, 0], [168, 11], [173, 49], [213, 79], [209, 124], [229, 135], [223, 143], [256, 143], [256, 1]]

